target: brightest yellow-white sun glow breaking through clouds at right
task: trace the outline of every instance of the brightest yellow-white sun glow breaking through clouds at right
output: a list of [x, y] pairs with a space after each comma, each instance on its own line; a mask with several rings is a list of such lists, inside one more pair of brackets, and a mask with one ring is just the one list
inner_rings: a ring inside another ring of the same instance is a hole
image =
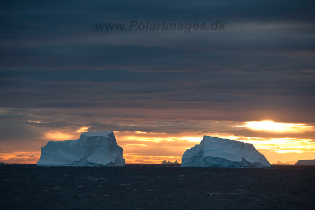
[[295, 124], [295, 123], [283, 123], [274, 121], [249, 121], [246, 122], [245, 126], [237, 127], [248, 127], [252, 130], [263, 130], [272, 132], [303, 132], [312, 130], [313, 126], [307, 126], [306, 124]]

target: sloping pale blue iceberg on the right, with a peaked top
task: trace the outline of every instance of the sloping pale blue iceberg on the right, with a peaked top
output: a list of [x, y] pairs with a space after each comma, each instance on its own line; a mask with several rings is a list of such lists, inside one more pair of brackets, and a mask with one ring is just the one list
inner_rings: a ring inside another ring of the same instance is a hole
[[182, 167], [270, 167], [252, 144], [204, 136], [199, 145], [186, 150]]

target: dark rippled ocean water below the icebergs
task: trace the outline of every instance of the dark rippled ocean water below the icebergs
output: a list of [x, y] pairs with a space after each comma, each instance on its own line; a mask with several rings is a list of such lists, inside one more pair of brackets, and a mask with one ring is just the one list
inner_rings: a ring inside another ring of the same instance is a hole
[[3, 210], [315, 209], [315, 166], [0, 165]]

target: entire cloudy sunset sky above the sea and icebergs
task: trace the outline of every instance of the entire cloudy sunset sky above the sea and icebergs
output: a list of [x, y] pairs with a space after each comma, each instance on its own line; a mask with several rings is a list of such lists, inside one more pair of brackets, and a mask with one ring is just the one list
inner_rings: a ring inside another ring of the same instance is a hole
[[[315, 1], [18, 1], [0, 7], [0, 162], [115, 133], [126, 163], [181, 162], [204, 135], [270, 163], [315, 159]], [[96, 30], [212, 23], [224, 30]]]

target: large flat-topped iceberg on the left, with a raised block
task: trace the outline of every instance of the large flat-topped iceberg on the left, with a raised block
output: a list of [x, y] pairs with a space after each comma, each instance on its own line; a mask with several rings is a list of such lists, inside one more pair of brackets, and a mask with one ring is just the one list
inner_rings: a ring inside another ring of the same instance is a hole
[[49, 141], [37, 166], [125, 166], [125, 159], [113, 131], [96, 131], [78, 140]]

